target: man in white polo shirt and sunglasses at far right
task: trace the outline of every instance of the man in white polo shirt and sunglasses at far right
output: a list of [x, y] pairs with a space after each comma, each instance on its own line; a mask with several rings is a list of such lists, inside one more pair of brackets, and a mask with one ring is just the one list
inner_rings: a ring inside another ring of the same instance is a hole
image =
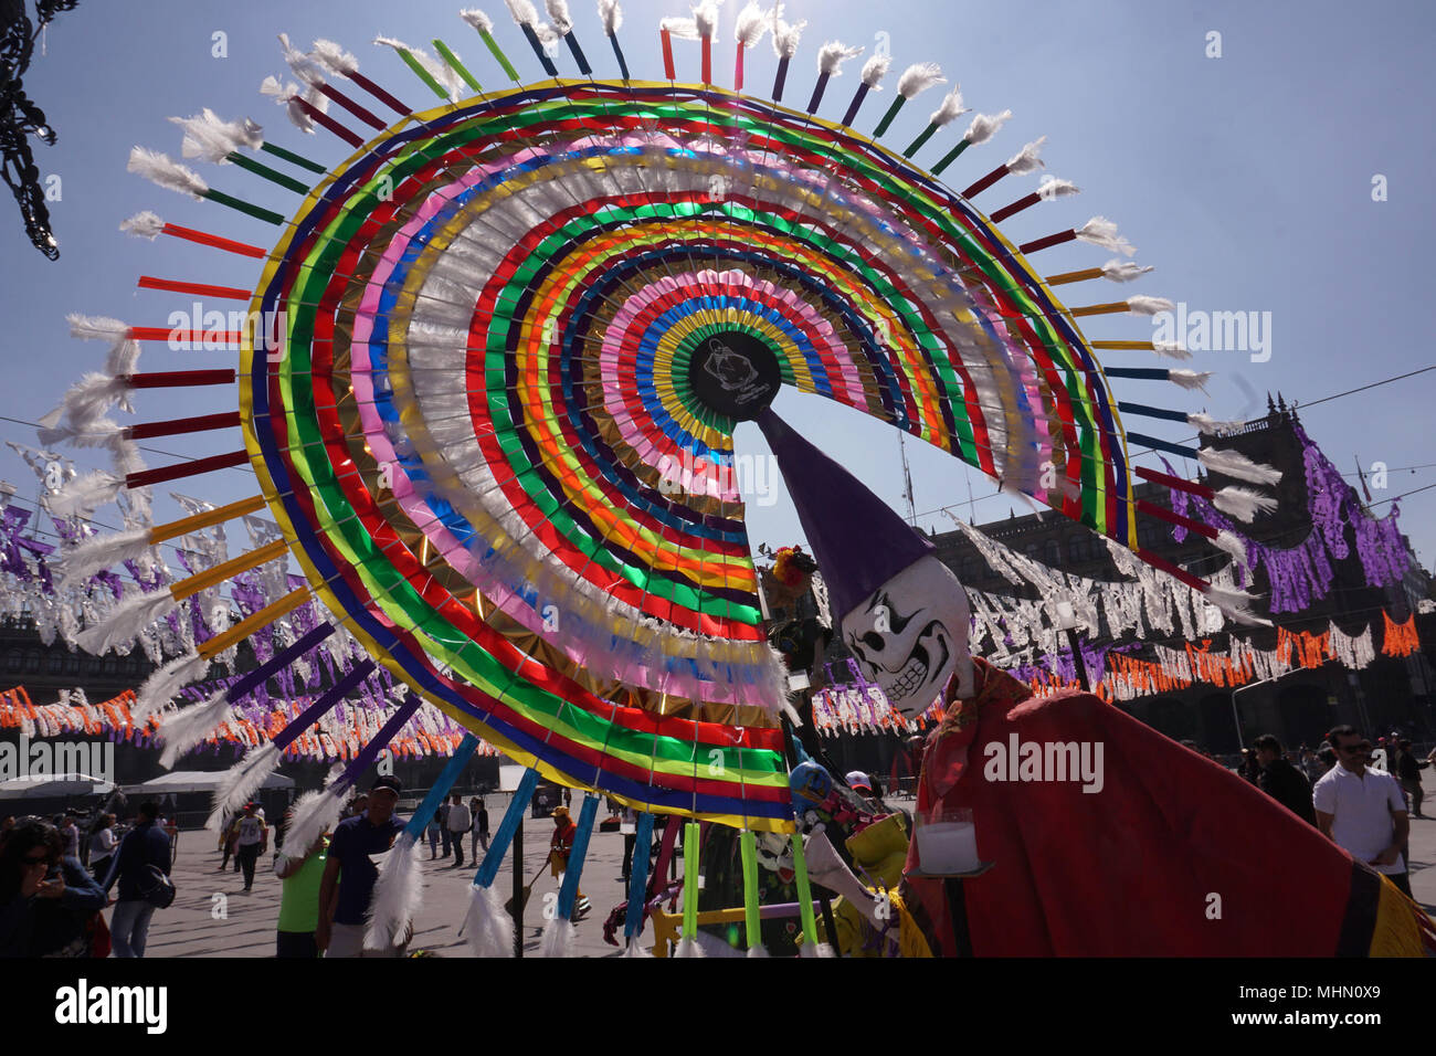
[[1402, 786], [1367, 767], [1371, 743], [1350, 726], [1327, 734], [1337, 764], [1311, 790], [1317, 828], [1358, 862], [1369, 863], [1410, 897], [1402, 849], [1410, 832]]

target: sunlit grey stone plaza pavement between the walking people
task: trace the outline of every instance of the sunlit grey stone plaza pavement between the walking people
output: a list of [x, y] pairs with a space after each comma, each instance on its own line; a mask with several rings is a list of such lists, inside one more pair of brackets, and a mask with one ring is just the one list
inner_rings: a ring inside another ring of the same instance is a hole
[[[1436, 779], [1427, 780], [1427, 787]], [[508, 805], [503, 795], [485, 796], [490, 818], [497, 826]], [[895, 805], [898, 802], [895, 800]], [[1432, 799], [1427, 805], [1436, 806]], [[910, 800], [902, 803], [910, 809]], [[577, 810], [577, 797], [574, 800]], [[602, 816], [600, 810], [600, 816]], [[404, 816], [404, 815], [401, 815]], [[540, 869], [549, 849], [553, 823], [549, 819], [524, 820], [524, 878]], [[244, 894], [243, 879], [230, 871], [218, 872], [221, 855], [214, 849], [215, 838], [204, 830], [180, 833], [178, 859], [174, 879], [177, 898], [172, 907], [155, 914], [149, 928], [146, 957], [273, 957], [274, 924], [279, 920], [280, 882], [273, 871], [271, 853], [260, 861], [254, 876], [254, 891]], [[441, 848], [442, 851], [442, 848]], [[1259, 848], [1252, 848], [1259, 853]], [[482, 852], [480, 852], [482, 853]], [[449, 868], [449, 861], [428, 859], [428, 845], [419, 849], [424, 859], [424, 908], [415, 927], [411, 951], [425, 950], [439, 957], [467, 955], [467, 942], [458, 928], [468, 905], [468, 888], [477, 865], [464, 848], [464, 868]], [[1412, 819], [1410, 839], [1412, 891], [1427, 912], [1436, 915], [1436, 819]], [[595, 832], [589, 845], [589, 861], [583, 869], [583, 892], [593, 901], [593, 911], [577, 925], [574, 954], [580, 957], [616, 957], [619, 950], [603, 941], [603, 921], [609, 911], [625, 901], [619, 869], [623, 861], [623, 838], [617, 833]], [[1275, 863], [1279, 869], [1279, 863]], [[1292, 878], [1300, 884], [1300, 878]], [[507, 901], [511, 889], [510, 861], [495, 884]], [[543, 928], [543, 897], [557, 891], [557, 882], [543, 869], [533, 886], [524, 917], [524, 951], [538, 950]], [[622, 935], [622, 928], [619, 930]], [[652, 941], [652, 928], [645, 930]]]

